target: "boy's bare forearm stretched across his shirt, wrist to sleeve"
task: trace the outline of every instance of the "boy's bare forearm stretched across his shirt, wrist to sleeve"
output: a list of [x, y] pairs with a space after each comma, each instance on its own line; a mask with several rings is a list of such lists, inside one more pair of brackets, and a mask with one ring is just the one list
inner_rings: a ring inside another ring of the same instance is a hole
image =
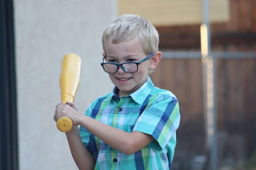
[[153, 140], [148, 134], [125, 132], [86, 116], [83, 116], [80, 124], [104, 143], [127, 155], [141, 150]]

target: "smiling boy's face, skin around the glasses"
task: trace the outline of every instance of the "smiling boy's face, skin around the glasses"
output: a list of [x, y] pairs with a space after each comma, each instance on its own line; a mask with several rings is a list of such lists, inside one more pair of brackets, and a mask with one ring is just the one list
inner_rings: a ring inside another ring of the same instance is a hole
[[[111, 39], [108, 39], [105, 43], [105, 49], [106, 53], [103, 55], [107, 56], [106, 62], [139, 62], [147, 57], [143, 52], [139, 38], [117, 44], [111, 43]], [[109, 74], [111, 81], [119, 89], [118, 96], [127, 96], [138, 90], [147, 81], [149, 68], [150, 60], [146, 60], [138, 65], [136, 73], [125, 73], [119, 67], [116, 73]]]

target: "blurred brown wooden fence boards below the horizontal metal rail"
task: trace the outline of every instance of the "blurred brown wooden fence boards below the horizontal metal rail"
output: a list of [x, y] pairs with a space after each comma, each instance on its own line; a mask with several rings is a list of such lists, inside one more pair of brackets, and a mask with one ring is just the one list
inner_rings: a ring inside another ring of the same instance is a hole
[[[176, 155], [205, 155], [201, 59], [162, 59], [150, 76], [179, 99]], [[218, 157], [243, 161], [256, 151], [256, 59], [216, 60]]]

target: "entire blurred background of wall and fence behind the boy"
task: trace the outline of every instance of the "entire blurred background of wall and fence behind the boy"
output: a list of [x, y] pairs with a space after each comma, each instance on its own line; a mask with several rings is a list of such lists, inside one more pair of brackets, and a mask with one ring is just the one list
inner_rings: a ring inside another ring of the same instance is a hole
[[151, 78], [177, 96], [181, 112], [172, 169], [256, 169], [256, 0], [3, 0], [0, 7], [0, 169], [77, 169], [52, 120], [60, 62], [70, 52], [82, 59], [75, 103], [83, 112], [112, 89], [99, 65], [101, 35], [124, 13], [159, 32], [163, 59]]

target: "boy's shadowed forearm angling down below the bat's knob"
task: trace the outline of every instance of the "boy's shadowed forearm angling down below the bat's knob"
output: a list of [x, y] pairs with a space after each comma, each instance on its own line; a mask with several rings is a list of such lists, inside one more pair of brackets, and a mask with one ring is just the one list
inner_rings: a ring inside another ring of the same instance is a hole
[[90, 152], [84, 147], [77, 127], [66, 133], [72, 157], [79, 169], [94, 169], [95, 161]]

